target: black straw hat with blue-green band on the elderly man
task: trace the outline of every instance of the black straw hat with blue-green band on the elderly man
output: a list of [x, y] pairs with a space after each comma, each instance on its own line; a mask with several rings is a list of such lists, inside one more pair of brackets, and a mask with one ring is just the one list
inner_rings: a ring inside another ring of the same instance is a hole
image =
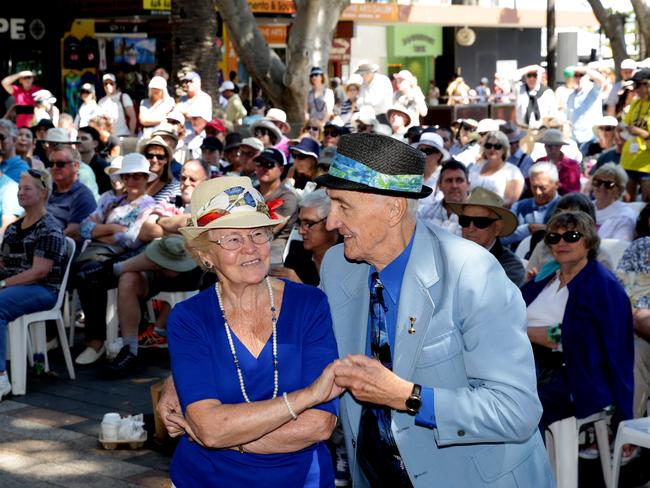
[[424, 153], [392, 137], [356, 133], [341, 136], [329, 173], [316, 178], [326, 188], [406, 198], [425, 198]]

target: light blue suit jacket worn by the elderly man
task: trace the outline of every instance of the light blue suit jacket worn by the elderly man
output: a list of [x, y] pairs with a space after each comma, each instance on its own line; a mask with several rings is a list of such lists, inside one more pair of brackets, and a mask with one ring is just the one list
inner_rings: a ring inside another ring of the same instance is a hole
[[[369, 265], [345, 259], [343, 245], [323, 260], [321, 286], [341, 357], [366, 350], [368, 272]], [[554, 486], [537, 429], [541, 404], [521, 293], [489, 252], [422, 221], [402, 282], [393, 371], [435, 393], [437, 428], [393, 414], [413, 486]], [[355, 488], [368, 486], [356, 464], [360, 417], [361, 404], [344, 394]]]

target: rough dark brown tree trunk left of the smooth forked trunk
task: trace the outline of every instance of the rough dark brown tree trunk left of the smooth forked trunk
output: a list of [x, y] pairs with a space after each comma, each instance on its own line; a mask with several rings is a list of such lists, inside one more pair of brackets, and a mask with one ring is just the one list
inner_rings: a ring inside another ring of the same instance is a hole
[[172, 2], [172, 84], [180, 94], [180, 81], [187, 71], [201, 75], [201, 89], [219, 101], [215, 45], [217, 14], [214, 0], [174, 0]]

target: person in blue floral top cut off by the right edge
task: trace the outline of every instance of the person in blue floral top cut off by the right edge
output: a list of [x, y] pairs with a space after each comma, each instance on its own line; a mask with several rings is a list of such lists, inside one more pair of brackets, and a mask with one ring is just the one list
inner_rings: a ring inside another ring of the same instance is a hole
[[618, 263], [616, 275], [625, 286], [634, 313], [634, 417], [646, 413], [650, 397], [650, 204], [636, 226], [637, 239]]

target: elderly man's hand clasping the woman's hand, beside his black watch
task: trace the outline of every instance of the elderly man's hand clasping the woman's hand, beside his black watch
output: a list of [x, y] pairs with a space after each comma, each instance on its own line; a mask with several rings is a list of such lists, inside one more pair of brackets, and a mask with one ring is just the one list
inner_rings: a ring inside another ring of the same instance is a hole
[[406, 410], [405, 402], [413, 390], [413, 383], [361, 354], [339, 360], [334, 374], [336, 384], [349, 390], [357, 400], [394, 410]]

